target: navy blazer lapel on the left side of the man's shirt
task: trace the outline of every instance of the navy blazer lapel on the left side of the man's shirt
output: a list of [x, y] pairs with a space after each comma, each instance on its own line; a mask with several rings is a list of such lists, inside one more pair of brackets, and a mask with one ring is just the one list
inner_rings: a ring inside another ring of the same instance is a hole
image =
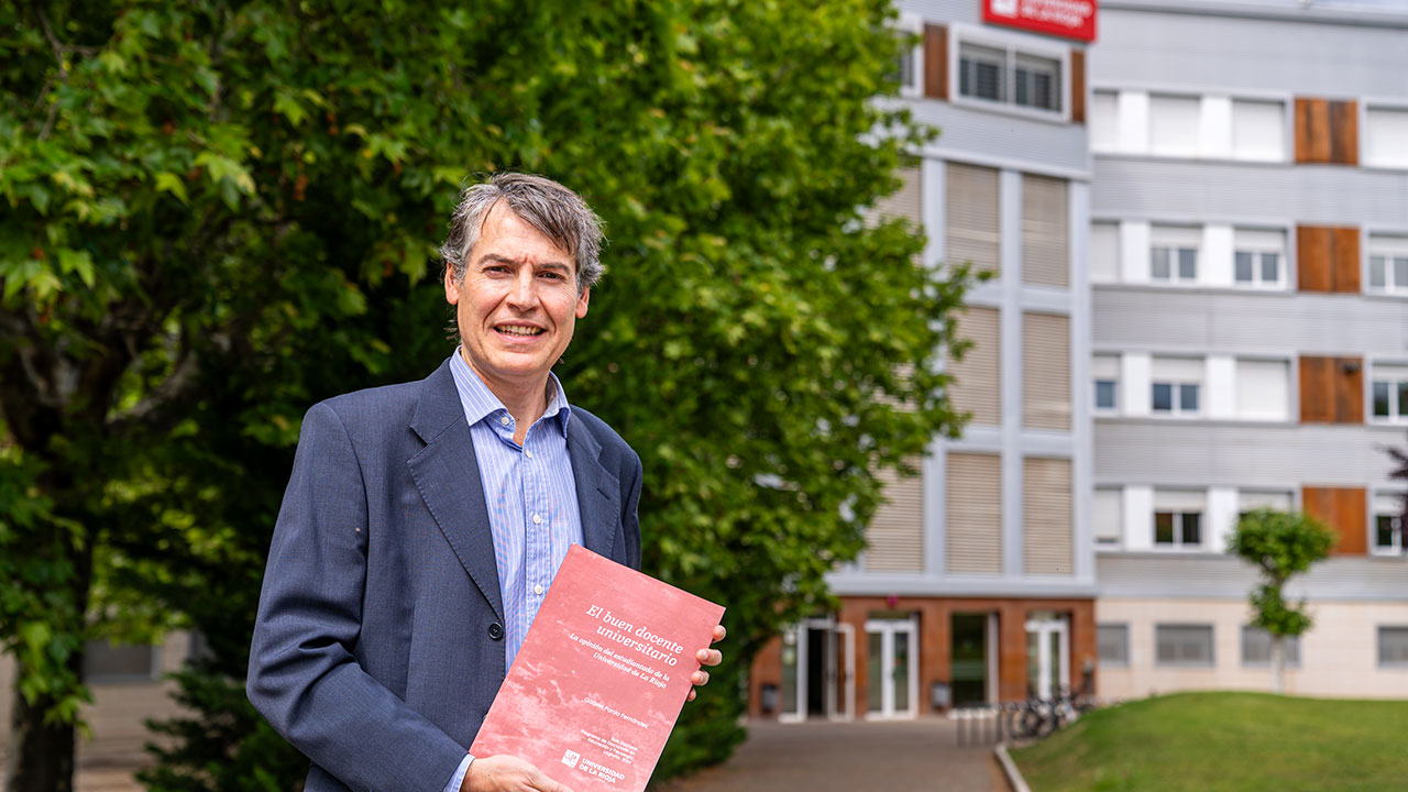
[[[460, 565], [501, 621], [504, 603], [498, 590], [494, 534], [489, 527], [489, 506], [479, 481], [474, 443], [469, 437], [449, 361], [425, 378], [411, 430], [425, 441], [425, 448], [407, 461], [415, 488]], [[580, 489], [580, 482], [577, 486]]]

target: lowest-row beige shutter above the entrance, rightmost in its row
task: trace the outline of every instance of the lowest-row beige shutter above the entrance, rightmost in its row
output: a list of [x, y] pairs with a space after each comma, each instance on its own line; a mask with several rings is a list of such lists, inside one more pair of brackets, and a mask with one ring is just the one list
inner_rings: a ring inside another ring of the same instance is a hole
[[1022, 461], [1022, 567], [1028, 575], [1070, 575], [1070, 459]]

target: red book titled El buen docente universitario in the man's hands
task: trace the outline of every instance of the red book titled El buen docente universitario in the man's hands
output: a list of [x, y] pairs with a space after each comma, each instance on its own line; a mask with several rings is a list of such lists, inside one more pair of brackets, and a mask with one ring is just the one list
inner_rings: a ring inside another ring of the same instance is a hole
[[641, 792], [694, 652], [724, 609], [582, 545], [567, 551], [469, 753], [522, 757], [576, 792]]

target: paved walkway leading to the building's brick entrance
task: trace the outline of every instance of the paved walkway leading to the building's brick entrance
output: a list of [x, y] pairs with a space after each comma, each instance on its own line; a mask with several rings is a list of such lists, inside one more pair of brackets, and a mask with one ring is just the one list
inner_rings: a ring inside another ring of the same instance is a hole
[[753, 722], [728, 762], [659, 792], [1010, 792], [991, 745], [959, 748], [948, 719]]

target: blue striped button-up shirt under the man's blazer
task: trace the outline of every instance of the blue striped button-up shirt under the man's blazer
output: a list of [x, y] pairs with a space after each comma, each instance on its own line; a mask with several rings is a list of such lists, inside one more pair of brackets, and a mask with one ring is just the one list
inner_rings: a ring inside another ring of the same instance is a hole
[[[576, 479], [567, 457], [572, 407], [549, 372], [552, 397], [542, 417], [514, 443], [515, 421], [459, 349], [451, 357], [459, 402], [479, 461], [479, 483], [494, 534], [498, 590], [504, 600], [504, 668], [514, 664], [542, 598], [567, 548], [582, 544]], [[466, 482], [467, 483], [467, 482]]]

